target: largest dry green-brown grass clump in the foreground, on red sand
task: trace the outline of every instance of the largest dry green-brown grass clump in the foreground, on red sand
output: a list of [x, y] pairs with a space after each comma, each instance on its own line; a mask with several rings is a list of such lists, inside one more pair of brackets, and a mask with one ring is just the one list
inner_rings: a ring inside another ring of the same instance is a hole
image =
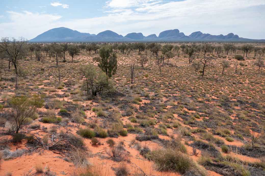
[[178, 172], [180, 174], [192, 172], [206, 175], [204, 169], [200, 168], [188, 155], [178, 150], [170, 148], [154, 150], [151, 152], [150, 158], [160, 171]]

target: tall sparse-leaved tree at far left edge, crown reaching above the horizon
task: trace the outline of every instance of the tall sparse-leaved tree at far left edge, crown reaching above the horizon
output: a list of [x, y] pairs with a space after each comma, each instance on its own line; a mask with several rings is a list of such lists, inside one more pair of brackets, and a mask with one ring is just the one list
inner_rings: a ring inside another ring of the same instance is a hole
[[27, 57], [26, 43], [24, 38], [2, 38], [0, 42], [1, 57], [9, 61], [8, 68], [10, 69], [10, 63], [15, 67], [17, 74], [18, 61]]

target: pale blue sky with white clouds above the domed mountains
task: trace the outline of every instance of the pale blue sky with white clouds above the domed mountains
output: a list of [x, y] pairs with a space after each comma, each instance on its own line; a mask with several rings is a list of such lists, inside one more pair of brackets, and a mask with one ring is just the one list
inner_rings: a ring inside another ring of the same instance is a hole
[[265, 39], [265, 0], [0, 1], [0, 37], [32, 39], [56, 27], [123, 36], [179, 29], [185, 35], [201, 31]]

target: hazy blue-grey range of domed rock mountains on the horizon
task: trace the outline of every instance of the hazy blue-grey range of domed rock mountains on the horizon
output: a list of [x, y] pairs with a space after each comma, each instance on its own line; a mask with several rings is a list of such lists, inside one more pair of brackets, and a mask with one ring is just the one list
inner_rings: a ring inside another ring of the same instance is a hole
[[144, 36], [142, 33], [129, 33], [125, 36], [119, 35], [113, 31], [106, 30], [96, 34], [81, 33], [66, 27], [58, 27], [50, 29], [29, 42], [107, 42], [107, 41], [257, 41], [265, 42], [265, 40], [255, 40], [241, 38], [238, 35], [229, 33], [227, 35], [211, 35], [203, 34], [200, 31], [194, 32], [187, 36], [180, 33], [178, 29], [166, 30], [158, 36], [151, 34]]

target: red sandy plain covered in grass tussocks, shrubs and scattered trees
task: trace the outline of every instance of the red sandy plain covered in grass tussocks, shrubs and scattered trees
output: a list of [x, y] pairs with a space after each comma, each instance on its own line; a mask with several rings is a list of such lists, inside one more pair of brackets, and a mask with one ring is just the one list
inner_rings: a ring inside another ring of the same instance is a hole
[[0, 43], [0, 175], [265, 175], [264, 43]]

